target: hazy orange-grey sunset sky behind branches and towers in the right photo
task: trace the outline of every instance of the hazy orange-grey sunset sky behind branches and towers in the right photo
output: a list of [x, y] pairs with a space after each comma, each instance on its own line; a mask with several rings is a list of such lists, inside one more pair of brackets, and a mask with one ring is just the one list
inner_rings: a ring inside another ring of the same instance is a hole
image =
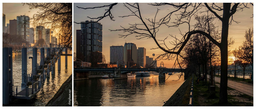
[[[74, 3], [74, 22], [82, 22], [84, 20], [91, 20], [88, 17], [97, 17], [99, 15], [102, 15], [104, 13], [103, 9], [88, 9], [88, 10], [83, 10], [83, 9], [79, 9], [76, 6], [79, 7], [97, 7], [97, 6], [102, 6], [102, 5], [109, 5], [110, 3]], [[119, 38], [119, 34], [125, 34], [123, 33], [123, 31], [112, 31], [110, 32], [108, 29], [111, 30], [115, 30], [115, 29], [121, 29], [120, 26], [123, 27], [128, 27], [128, 23], [132, 23], [134, 24], [134, 22], [138, 22], [139, 20], [137, 19], [133, 19], [133, 17], [127, 17], [127, 18], [120, 18], [118, 16], [122, 16], [122, 15], [127, 15], [130, 14], [129, 11], [125, 8], [122, 8], [123, 5], [122, 4], [118, 4], [115, 6], [115, 8], [113, 8], [113, 10], [111, 11], [112, 15], [114, 16], [114, 20], [112, 21], [109, 18], [105, 18], [99, 21], [99, 23], [101, 23], [103, 25], [103, 47], [102, 47], [102, 53], [106, 56], [106, 61], [110, 61], [110, 46], [117, 46], [117, 45], [124, 45], [125, 42], [127, 43], [134, 43], [136, 44], [137, 47], [145, 47], [147, 49], [147, 53], [146, 56], [150, 56], [153, 57], [152, 54], [156, 54], [156, 56], [154, 56], [154, 58], [157, 57], [157, 54], [162, 54], [164, 53], [162, 50], [160, 49], [154, 49], [151, 50], [152, 48], [157, 48], [156, 43], [153, 41], [153, 39], [140, 39], [137, 40], [136, 37], [126, 37], [126, 38]], [[145, 7], [150, 7], [147, 10], [147, 8]], [[229, 26], [229, 37], [232, 37], [235, 41], [235, 43], [233, 45], [230, 46], [230, 49], [234, 49], [238, 46], [240, 46], [243, 41], [245, 40], [244, 38], [244, 33], [248, 28], [252, 28], [253, 27], [253, 18], [252, 14], [253, 14], [253, 8], [250, 5], [250, 8], [246, 8], [244, 9], [244, 11], [238, 11], [236, 14], [234, 14], [234, 19], [237, 22], [240, 22], [239, 24], [237, 23], [232, 23], [232, 25]], [[161, 6], [161, 7], [153, 7], [149, 6], [147, 4], [143, 4], [140, 3], [140, 8], [141, 8], [141, 13], [143, 17], [145, 18], [153, 18], [153, 16], [156, 13], [157, 8], [160, 9], [158, 16], [162, 16], [165, 15], [164, 12], [168, 11], [168, 7], [167, 6]], [[93, 11], [93, 13], [92, 13]], [[200, 15], [200, 14], [199, 14]], [[239, 16], [239, 17], [238, 17]], [[221, 22], [216, 20], [216, 26], [221, 27]], [[140, 22], [139, 22], [140, 23]], [[194, 24], [194, 23], [193, 23]], [[182, 28], [183, 27], [183, 28]], [[179, 28], [167, 28], [164, 27], [159, 29], [158, 32], [158, 40], [163, 40], [165, 37], [168, 37], [168, 41], [173, 41], [173, 39], [170, 37], [169, 34], [175, 36], [176, 37], [181, 37], [180, 33], [179, 33], [179, 29], [181, 30], [182, 33], [184, 33], [183, 30], [187, 30], [187, 27], [184, 28], [186, 26], [180, 26]], [[79, 24], [74, 23], [74, 31], [78, 30], [80, 28]], [[221, 30], [221, 28], [219, 28], [219, 30]], [[76, 36], [76, 33], [74, 32], [74, 36]], [[75, 37], [74, 37], [75, 38]], [[75, 44], [75, 42], [74, 42]], [[74, 52], [75, 52], [75, 47], [74, 47]], [[172, 68], [174, 60], [161, 60], [158, 62], [157, 66], [160, 66], [160, 62], [164, 62], [165, 66], [168, 68]]]

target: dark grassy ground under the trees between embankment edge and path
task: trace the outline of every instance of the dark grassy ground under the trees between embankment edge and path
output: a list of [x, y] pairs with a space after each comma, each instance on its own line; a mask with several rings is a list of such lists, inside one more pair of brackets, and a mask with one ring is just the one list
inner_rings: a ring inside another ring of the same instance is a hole
[[[196, 79], [197, 77], [194, 75], [194, 83], [196, 83]], [[234, 95], [227, 94], [227, 104], [220, 104], [218, 102], [220, 97], [219, 86], [219, 83], [215, 83], [215, 96], [211, 98], [208, 83], [200, 81], [199, 84], [194, 84], [194, 106], [253, 106], [253, 97], [240, 93], [234, 93]], [[233, 91], [231, 90], [234, 89], [227, 87], [227, 90], [228, 93], [232, 93]]]

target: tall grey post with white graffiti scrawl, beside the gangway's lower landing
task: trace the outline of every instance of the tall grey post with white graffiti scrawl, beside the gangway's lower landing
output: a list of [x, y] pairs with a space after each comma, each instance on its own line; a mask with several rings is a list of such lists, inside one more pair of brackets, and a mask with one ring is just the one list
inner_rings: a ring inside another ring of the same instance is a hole
[[22, 81], [21, 86], [27, 86], [27, 48], [21, 49]]

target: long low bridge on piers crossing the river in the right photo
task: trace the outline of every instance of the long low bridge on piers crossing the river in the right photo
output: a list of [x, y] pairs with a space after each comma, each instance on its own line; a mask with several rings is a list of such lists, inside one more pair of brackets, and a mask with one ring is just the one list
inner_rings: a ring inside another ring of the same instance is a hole
[[[123, 79], [127, 78], [128, 72], [133, 71], [154, 71], [159, 73], [159, 78], [165, 78], [165, 73], [168, 72], [181, 72], [184, 71], [184, 69], [179, 68], [74, 68], [74, 74], [77, 77], [76, 79], [83, 78], [88, 79], [89, 75], [88, 72], [109, 72], [114, 74], [114, 79]], [[82, 74], [83, 77], [79, 77], [79, 75]]]

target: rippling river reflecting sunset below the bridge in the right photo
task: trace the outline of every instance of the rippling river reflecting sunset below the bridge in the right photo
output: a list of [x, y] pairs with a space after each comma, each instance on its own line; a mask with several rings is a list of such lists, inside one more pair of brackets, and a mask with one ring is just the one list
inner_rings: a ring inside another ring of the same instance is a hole
[[[127, 79], [74, 81], [74, 106], [162, 106], [184, 82], [176, 73]], [[174, 81], [178, 80], [178, 81]]]

